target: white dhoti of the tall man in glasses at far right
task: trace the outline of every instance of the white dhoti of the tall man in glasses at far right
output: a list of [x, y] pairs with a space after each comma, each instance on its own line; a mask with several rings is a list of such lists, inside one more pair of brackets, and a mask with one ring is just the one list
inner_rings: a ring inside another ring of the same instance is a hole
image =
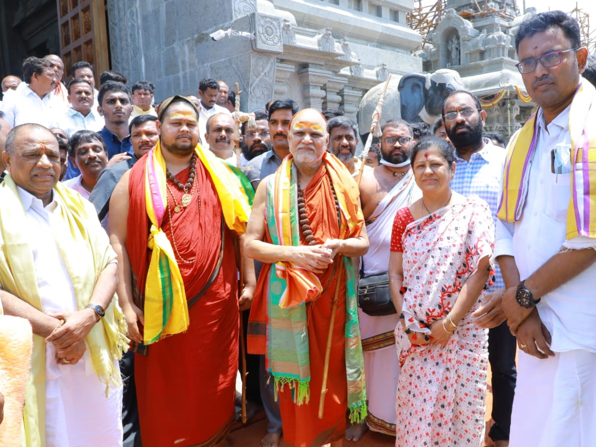
[[510, 447], [596, 445], [596, 353], [575, 349], [517, 362]]

